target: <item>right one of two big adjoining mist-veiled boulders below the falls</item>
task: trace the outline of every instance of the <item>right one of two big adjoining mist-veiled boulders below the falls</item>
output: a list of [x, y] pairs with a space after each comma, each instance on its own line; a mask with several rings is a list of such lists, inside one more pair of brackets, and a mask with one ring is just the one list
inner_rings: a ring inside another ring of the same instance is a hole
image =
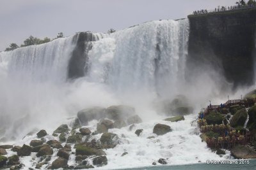
[[135, 109], [131, 106], [118, 105], [118, 106], [109, 106], [106, 109], [106, 116], [112, 120], [120, 120], [122, 118], [127, 118], [130, 115], [135, 114]]

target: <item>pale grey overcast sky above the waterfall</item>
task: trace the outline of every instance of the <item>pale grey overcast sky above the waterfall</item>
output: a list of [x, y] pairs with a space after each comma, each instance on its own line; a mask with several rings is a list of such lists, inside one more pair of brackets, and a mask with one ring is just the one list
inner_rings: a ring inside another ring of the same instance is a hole
[[0, 51], [33, 35], [107, 32], [142, 22], [186, 18], [194, 10], [234, 5], [237, 0], [0, 0]]

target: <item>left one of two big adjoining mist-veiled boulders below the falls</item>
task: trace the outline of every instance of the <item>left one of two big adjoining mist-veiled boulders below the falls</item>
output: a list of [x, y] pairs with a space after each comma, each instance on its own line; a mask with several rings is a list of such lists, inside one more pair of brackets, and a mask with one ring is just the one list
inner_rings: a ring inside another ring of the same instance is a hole
[[81, 125], [88, 125], [91, 120], [100, 120], [100, 118], [105, 118], [105, 108], [93, 107], [78, 111], [77, 118], [79, 119]]

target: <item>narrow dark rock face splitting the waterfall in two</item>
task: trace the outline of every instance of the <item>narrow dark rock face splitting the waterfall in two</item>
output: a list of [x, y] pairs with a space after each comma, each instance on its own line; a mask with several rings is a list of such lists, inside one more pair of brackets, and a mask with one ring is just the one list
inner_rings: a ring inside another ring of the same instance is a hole
[[92, 32], [79, 32], [74, 38], [76, 48], [72, 52], [72, 57], [68, 64], [68, 78], [79, 78], [84, 76], [88, 70], [88, 52], [92, 49], [92, 41], [97, 41], [99, 38], [93, 35]]

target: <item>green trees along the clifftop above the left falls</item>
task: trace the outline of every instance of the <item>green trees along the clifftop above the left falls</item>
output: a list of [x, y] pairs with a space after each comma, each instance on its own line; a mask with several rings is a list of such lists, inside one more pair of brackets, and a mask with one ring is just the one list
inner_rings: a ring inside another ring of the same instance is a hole
[[[57, 39], [57, 38], [63, 38], [63, 32], [59, 32], [57, 37], [54, 39]], [[25, 41], [23, 42], [24, 44], [20, 45], [20, 47], [29, 46], [29, 45], [40, 45], [40, 44], [48, 43], [52, 40], [53, 39], [48, 38], [48, 37], [45, 37], [44, 39], [40, 39], [40, 38], [36, 38], [34, 36], [29, 36], [29, 38], [25, 39]], [[8, 52], [11, 50], [15, 50], [16, 48], [19, 48], [19, 46], [16, 43], [11, 43], [10, 47], [6, 48], [4, 51]]]

